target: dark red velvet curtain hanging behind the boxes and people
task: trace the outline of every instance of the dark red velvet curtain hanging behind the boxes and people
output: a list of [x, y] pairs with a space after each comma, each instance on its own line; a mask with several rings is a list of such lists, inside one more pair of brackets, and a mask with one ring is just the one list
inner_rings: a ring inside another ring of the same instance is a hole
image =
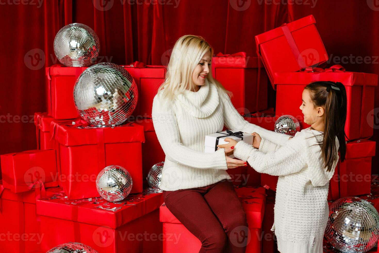
[[[64, 25], [79, 22], [96, 31], [98, 61], [166, 64], [182, 35], [203, 36], [215, 53], [255, 56], [255, 35], [309, 14], [332, 59], [329, 65], [348, 56], [341, 63], [348, 71], [379, 74], [377, 0], [0, 0], [0, 154], [36, 148], [33, 114], [47, 110], [45, 67], [58, 63], [53, 40]], [[370, 61], [360, 63], [365, 57]], [[371, 140], [379, 143], [379, 130]]]

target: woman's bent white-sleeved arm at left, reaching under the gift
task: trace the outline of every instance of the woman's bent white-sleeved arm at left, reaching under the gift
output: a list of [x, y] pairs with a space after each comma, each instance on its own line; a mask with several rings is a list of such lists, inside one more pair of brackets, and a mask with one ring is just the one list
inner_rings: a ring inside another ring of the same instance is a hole
[[214, 153], [203, 153], [180, 142], [175, 113], [171, 108], [163, 107], [157, 95], [153, 99], [152, 118], [155, 134], [169, 160], [200, 169], [228, 169], [224, 148]]

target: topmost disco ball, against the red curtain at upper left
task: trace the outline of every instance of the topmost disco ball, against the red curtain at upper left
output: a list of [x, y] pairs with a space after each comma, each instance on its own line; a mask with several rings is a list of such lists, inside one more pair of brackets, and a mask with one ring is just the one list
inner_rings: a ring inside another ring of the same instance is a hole
[[55, 35], [54, 53], [65, 66], [89, 66], [96, 61], [99, 51], [99, 37], [87, 25], [72, 23], [62, 27]]

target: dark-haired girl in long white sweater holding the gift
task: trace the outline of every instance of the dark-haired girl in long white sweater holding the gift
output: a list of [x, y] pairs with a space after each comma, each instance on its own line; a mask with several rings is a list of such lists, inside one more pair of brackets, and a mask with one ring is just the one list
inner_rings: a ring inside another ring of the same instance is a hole
[[[345, 160], [346, 90], [342, 83], [314, 82], [304, 88], [300, 110], [311, 125], [282, 146], [253, 133], [253, 147], [231, 139], [218, 145], [261, 173], [279, 176], [274, 225], [281, 253], [322, 253], [329, 215], [329, 180]], [[234, 146], [234, 148], [233, 148]], [[255, 149], [257, 148], [257, 149]]]

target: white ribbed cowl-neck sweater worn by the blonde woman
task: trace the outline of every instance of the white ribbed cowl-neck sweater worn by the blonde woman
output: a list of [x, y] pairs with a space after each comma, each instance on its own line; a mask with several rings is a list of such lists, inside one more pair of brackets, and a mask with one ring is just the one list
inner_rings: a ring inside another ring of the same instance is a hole
[[231, 179], [226, 172], [224, 148], [204, 153], [205, 135], [221, 131], [224, 125], [233, 132], [259, 132], [262, 137], [278, 143], [288, 140], [288, 135], [244, 120], [229, 96], [207, 79], [199, 91], [186, 90], [170, 106], [164, 106], [159, 95], [153, 99], [152, 118], [158, 141], [166, 154], [162, 190], [203, 187]]

